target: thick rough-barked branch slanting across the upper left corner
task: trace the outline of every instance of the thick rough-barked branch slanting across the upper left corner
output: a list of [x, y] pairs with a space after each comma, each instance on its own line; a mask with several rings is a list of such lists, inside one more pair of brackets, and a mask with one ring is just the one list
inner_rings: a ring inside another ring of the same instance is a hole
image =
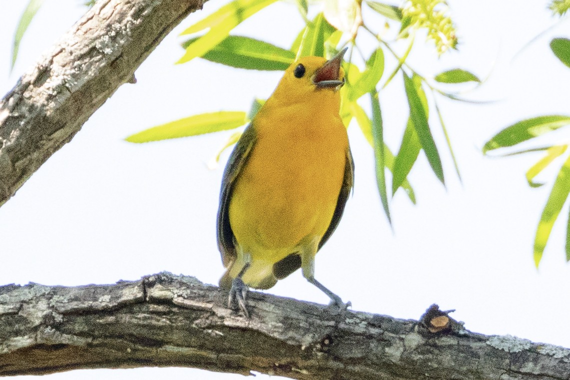
[[0, 101], [0, 206], [205, 0], [99, 0]]

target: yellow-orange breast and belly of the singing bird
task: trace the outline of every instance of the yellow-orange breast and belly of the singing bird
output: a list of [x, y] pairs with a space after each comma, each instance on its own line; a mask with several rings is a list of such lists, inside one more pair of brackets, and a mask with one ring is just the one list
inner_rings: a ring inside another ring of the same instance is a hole
[[276, 262], [318, 242], [331, 223], [348, 137], [338, 108], [320, 106], [266, 104], [253, 122], [255, 145], [229, 216], [237, 243], [254, 260]]

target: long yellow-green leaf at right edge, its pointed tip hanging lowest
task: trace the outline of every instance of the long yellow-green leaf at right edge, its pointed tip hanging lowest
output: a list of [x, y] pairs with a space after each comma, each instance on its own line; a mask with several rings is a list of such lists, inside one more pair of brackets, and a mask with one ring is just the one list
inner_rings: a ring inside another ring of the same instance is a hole
[[560, 168], [556, 181], [552, 186], [552, 191], [548, 197], [548, 201], [546, 202], [546, 206], [540, 216], [538, 228], [536, 228], [534, 244], [534, 260], [536, 267], [538, 267], [540, 263], [540, 259], [544, 253], [544, 248], [546, 247], [550, 232], [552, 231], [552, 226], [568, 198], [568, 193], [570, 193], [570, 156], [568, 156], [564, 165]]

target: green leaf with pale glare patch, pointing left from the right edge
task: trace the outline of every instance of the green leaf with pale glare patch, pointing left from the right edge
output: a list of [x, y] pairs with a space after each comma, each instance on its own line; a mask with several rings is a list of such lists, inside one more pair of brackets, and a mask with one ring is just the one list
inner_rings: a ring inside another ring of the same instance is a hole
[[560, 115], [539, 116], [519, 121], [507, 126], [487, 141], [483, 146], [483, 154], [489, 150], [519, 144], [568, 124], [570, 124], [570, 116]]

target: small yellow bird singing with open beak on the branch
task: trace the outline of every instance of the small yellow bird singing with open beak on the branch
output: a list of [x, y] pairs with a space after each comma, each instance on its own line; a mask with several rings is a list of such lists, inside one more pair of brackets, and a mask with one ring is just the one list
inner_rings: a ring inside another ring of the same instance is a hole
[[246, 308], [248, 287], [271, 288], [299, 268], [315, 279], [315, 255], [343, 215], [354, 182], [339, 89], [345, 48], [330, 60], [304, 57], [283, 75], [237, 142], [223, 173], [218, 247], [227, 268], [219, 281], [229, 307]]

